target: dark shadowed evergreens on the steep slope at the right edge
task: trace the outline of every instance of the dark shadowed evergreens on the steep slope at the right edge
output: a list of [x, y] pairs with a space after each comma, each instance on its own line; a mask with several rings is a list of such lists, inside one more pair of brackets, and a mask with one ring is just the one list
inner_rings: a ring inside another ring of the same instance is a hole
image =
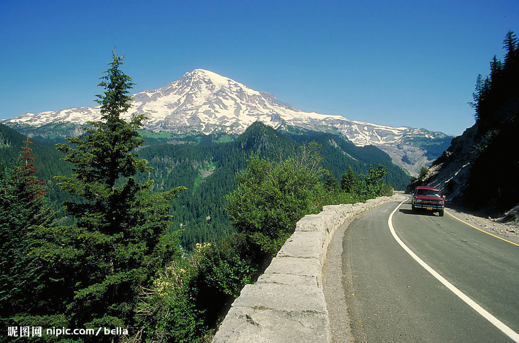
[[[473, 147], [471, 174], [466, 199], [481, 208], [503, 211], [519, 202], [519, 46], [514, 32], [503, 40], [503, 61], [494, 56], [490, 74], [477, 76], [472, 94], [477, 134], [481, 142]], [[491, 199], [490, 204], [486, 200]]]

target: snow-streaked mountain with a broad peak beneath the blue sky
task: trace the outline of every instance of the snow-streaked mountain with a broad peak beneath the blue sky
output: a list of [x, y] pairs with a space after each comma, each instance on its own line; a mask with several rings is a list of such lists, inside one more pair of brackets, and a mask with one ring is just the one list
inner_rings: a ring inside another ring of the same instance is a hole
[[[429, 159], [416, 144], [421, 140], [444, 139], [441, 132], [408, 127], [388, 127], [348, 120], [339, 115], [304, 112], [276, 99], [272, 94], [256, 91], [230, 78], [196, 69], [166, 87], [145, 90], [133, 95], [132, 110], [127, 114], [145, 114], [144, 129], [154, 132], [205, 133], [216, 131], [242, 133], [254, 121], [262, 121], [274, 128], [295, 126], [315, 131], [342, 133], [356, 145], [379, 146], [412, 174]], [[49, 125], [81, 125], [99, 120], [100, 106], [77, 107], [26, 113], [4, 120], [13, 128], [44, 128]], [[408, 153], [409, 154], [408, 154]]]

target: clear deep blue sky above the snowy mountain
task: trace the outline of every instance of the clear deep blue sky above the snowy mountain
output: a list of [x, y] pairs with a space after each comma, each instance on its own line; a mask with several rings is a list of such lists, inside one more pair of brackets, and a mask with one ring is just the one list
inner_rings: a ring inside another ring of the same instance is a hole
[[519, 2], [0, 2], [0, 119], [94, 105], [116, 46], [135, 92], [204, 68], [304, 111], [461, 134]]

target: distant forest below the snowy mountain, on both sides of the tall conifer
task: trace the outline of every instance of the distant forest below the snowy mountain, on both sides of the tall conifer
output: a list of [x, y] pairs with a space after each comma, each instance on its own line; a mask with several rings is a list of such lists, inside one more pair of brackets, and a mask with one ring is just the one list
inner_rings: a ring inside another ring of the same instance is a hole
[[[6, 161], [12, 160], [18, 156], [24, 137], [4, 125], [0, 125], [0, 133], [6, 142], [10, 142], [2, 156]], [[337, 180], [350, 167], [357, 174], [366, 174], [371, 165], [381, 163], [387, 168], [384, 177], [387, 184], [403, 189], [409, 182], [409, 176], [382, 150], [375, 146], [358, 147], [331, 133], [301, 129], [277, 131], [256, 122], [234, 141], [218, 143], [221, 138], [218, 134], [189, 136], [182, 138], [186, 144], [171, 144], [167, 143], [170, 135], [155, 136], [145, 138], [146, 142], [139, 149], [140, 156], [153, 167], [147, 173], [138, 174], [141, 182], [155, 180], [154, 191], [175, 186], [187, 188], [180, 193], [171, 210], [172, 228], [183, 230], [180, 240], [187, 251], [193, 250], [196, 243], [214, 242], [236, 231], [224, 209], [225, 195], [237, 187], [236, 173], [245, 167], [245, 160], [253, 152], [272, 160], [279, 159], [280, 153], [287, 158], [300, 146], [313, 141], [321, 144], [322, 167]], [[50, 200], [56, 205], [70, 200], [69, 194], [52, 178], [53, 175], [72, 173], [70, 163], [60, 160], [64, 155], [47, 142], [34, 141], [33, 151], [35, 165], [40, 171], [38, 176], [46, 182]]]

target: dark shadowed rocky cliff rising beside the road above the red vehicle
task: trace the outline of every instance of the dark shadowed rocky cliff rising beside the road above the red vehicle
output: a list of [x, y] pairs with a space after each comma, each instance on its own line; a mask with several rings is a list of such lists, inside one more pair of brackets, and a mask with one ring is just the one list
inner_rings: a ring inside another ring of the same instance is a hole
[[501, 106], [488, 122], [479, 120], [452, 140], [419, 185], [442, 190], [453, 204], [502, 221], [519, 221], [519, 100]]

